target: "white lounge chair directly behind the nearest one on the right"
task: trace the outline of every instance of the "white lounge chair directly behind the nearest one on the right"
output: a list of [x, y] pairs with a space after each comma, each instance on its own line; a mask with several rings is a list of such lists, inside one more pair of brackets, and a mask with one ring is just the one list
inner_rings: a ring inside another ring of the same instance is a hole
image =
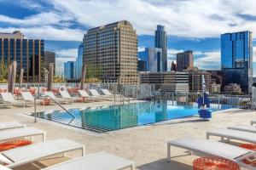
[[212, 131], [208, 131], [207, 139], [210, 139], [210, 136], [218, 136], [221, 137], [222, 140], [226, 138], [228, 142], [230, 142], [230, 139], [236, 139], [245, 142], [256, 143], [256, 133], [241, 132], [226, 128], [218, 128]]

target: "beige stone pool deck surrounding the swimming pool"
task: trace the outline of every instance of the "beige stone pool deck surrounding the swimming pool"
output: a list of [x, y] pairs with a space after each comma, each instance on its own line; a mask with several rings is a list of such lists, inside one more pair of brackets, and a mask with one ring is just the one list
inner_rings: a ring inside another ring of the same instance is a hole
[[[113, 102], [94, 102], [72, 105], [64, 105], [66, 108], [81, 108], [85, 106], [113, 105]], [[39, 106], [38, 111], [51, 111], [60, 109], [57, 105]], [[247, 124], [256, 118], [256, 111], [230, 109], [213, 114], [210, 122], [202, 122], [198, 117], [189, 117], [167, 122], [160, 122], [142, 127], [131, 127], [108, 133], [91, 133], [75, 127], [67, 127], [59, 123], [38, 119], [34, 122], [32, 116], [24, 113], [32, 112], [32, 107], [3, 109], [0, 108], [0, 122], [18, 121], [27, 127], [37, 127], [44, 130], [46, 139], [67, 138], [85, 145], [85, 153], [93, 154], [98, 151], [107, 151], [116, 156], [122, 156], [135, 161], [137, 169], [140, 170], [189, 170], [193, 169], [192, 161], [197, 156], [188, 156], [185, 150], [173, 148], [172, 161], [166, 159], [166, 143], [169, 140], [185, 136], [194, 136], [206, 139], [207, 130]], [[219, 138], [213, 138], [217, 139]], [[239, 144], [232, 141], [232, 144]], [[79, 156], [79, 151], [70, 156]], [[67, 160], [66, 157], [48, 159], [34, 162], [25, 166], [16, 167], [15, 170], [36, 170], [48, 167], [56, 162]], [[100, 162], [100, 161], [99, 161]]]

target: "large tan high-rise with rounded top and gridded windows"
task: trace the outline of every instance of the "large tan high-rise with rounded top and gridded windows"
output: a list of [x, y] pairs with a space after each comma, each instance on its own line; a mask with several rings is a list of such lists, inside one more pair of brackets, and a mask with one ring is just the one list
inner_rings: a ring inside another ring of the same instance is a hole
[[106, 82], [137, 83], [137, 34], [121, 20], [84, 34], [84, 63], [95, 67]]

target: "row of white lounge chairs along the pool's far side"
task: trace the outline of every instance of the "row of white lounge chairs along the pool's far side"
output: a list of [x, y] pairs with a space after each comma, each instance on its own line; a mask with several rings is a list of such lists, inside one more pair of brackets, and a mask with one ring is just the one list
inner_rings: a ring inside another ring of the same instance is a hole
[[[88, 101], [96, 101], [96, 100], [102, 100], [102, 99], [112, 99], [113, 94], [109, 92], [108, 89], [102, 89], [102, 94], [99, 94], [96, 89], [89, 89], [90, 94], [89, 95], [85, 90], [79, 90], [79, 96], [78, 97], [72, 97], [67, 91], [60, 91], [61, 97], [56, 97], [54, 93], [52, 92], [44, 92], [44, 96], [49, 96], [51, 99], [55, 99], [55, 101], [60, 102], [60, 103], [71, 103], [74, 101], [84, 101], [84, 99]], [[11, 93], [0, 93], [3, 104], [10, 105], [12, 108], [13, 105], [22, 105], [25, 107], [26, 105], [33, 105], [35, 100], [34, 97], [30, 92], [21, 92], [21, 100], [15, 99], [13, 94]], [[44, 104], [43, 99], [37, 99], [36, 102]]]

